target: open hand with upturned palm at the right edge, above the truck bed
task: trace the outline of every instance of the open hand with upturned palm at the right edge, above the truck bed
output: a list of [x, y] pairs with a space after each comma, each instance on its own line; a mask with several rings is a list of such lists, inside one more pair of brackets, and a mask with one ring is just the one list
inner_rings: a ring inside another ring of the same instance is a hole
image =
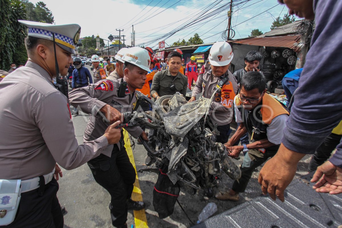
[[[317, 182], [318, 181], [318, 182]], [[326, 161], [317, 167], [311, 182], [317, 182], [313, 189], [329, 194], [342, 193], [342, 168]]]

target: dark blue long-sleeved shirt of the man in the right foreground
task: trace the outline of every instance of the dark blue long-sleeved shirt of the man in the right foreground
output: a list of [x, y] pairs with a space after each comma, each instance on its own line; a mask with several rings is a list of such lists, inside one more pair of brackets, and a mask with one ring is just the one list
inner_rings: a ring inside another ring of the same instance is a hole
[[[342, 120], [342, 1], [314, 0], [315, 31], [282, 143], [314, 153]], [[342, 167], [342, 143], [330, 159]]]

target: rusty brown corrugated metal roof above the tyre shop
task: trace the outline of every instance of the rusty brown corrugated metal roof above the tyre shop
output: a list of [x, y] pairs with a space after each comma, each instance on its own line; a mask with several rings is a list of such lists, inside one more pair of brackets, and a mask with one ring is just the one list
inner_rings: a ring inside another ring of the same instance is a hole
[[248, 44], [255, 46], [267, 46], [267, 47], [283, 47], [294, 49], [300, 41], [300, 35], [295, 36], [283, 36], [283, 37], [254, 37], [240, 40], [229, 41], [231, 43]]

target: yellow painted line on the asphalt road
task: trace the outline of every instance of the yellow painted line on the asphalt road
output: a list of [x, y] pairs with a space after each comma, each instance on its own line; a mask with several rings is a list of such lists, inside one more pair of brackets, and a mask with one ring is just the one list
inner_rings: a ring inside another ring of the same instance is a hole
[[[133, 188], [133, 193], [132, 193], [132, 200], [143, 201], [143, 196], [141, 195], [141, 190], [140, 190], [140, 185], [139, 185], [139, 179], [136, 173], [133, 151], [131, 148], [131, 141], [128, 137], [128, 132], [126, 130], [123, 130], [123, 135], [124, 135], [123, 139], [125, 142], [125, 147], [126, 147], [128, 157], [135, 170], [135, 183], [134, 183], [134, 188]], [[133, 213], [134, 213], [135, 228], [148, 228], [145, 209], [140, 210], [140, 211], [133, 211]]]

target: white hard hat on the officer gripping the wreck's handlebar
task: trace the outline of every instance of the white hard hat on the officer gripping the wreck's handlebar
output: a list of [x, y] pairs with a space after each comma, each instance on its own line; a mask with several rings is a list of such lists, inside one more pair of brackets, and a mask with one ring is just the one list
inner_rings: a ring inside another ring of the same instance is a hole
[[151, 63], [151, 60], [148, 52], [143, 48], [133, 47], [128, 49], [122, 60], [124, 62], [138, 66], [148, 72], [150, 71], [149, 65]]

